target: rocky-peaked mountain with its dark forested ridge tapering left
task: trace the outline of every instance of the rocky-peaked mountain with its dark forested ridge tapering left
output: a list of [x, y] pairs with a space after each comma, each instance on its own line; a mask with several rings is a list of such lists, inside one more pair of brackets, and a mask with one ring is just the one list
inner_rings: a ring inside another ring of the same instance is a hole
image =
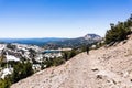
[[47, 43], [45, 45], [45, 48], [46, 47], [50, 47], [50, 48], [57, 48], [57, 47], [76, 48], [77, 47], [78, 48], [82, 45], [90, 45], [90, 44], [100, 42], [101, 40], [102, 37], [97, 34], [87, 34], [85, 36], [77, 37], [77, 38], [66, 38], [63, 41]]

